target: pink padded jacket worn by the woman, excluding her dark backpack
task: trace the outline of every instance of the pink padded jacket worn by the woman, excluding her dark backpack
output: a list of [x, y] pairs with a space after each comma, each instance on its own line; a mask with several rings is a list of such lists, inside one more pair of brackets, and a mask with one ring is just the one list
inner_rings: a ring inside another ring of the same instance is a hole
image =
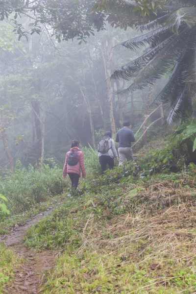
[[[68, 157], [69, 157], [70, 152], [74, 149], [78, 150], [77, 156], [78, 156], [79, 161], [75, 166], [69, 166], [67, 163]], [[82, 171], [82, 176], [85, 177], [86, 172], [85, 172], [85, 167], [84, 167], [84, 153], [78, 147], [73, 147], [66, 154], [65, 164], [63, 167], [63, 177], [65, 178], [68, 173], [76, 173], [76, 174], [79, 174], [79, 176], [80, 176], [80, 170]]]

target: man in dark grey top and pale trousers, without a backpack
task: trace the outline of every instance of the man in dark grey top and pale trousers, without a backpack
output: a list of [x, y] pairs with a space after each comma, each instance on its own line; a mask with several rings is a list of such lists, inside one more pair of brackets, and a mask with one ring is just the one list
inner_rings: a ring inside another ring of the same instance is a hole
[[126, 160], [133, 160], [131, 142], [135, 142], [135, 137], [128, 121], [123, 122], [123, 128], [116, 135], [116, 142], [119, 143], [119, 165], [124, 165]]

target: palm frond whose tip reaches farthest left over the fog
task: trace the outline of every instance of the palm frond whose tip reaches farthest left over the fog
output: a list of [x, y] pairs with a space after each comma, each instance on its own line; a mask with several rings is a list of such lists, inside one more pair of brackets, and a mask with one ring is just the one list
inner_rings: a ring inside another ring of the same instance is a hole
[[172, 41], [172, 39], [175, 38], [175, 35], [170, 36], [164, 42], [157, 45], [155, 48], [149, 50], [144, 55], [140, 56], [139, 58], [127, 63], [124, 65], [121, 69], [116, 70], [114, 73], [112, 73], [111, 78], [112, 79], [126, 79], [130, 80], [138, 71], [143, 69], [145, 66], [147, 66], [148, 62], [159, 52], [160, 50], [164, 50], [165, 47]]

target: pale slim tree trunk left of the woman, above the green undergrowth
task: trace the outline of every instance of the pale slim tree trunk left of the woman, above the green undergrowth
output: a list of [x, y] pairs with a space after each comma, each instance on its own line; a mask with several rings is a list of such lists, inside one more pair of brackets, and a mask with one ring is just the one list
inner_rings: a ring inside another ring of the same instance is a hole
[[37, 147], [38, 147], [38, 156], [37, 160], [39, 160], [42, 156], [42, 128], [41, 128], [41, 119], [40, 119], [40, 103], [39, 101], [32, 100], [31, 105], [34, 112], [34, 120], [35, 120], [35, 130], [37, 137]]

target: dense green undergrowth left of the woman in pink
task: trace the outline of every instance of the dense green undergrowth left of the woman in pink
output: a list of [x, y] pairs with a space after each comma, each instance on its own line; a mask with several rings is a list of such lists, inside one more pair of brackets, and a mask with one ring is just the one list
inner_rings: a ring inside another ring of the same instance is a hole
[[15, 171], [0, 179], [0, 194], [8, 199], [7, 207], [11, 213], [16, 214], [49, 196], [61, 194], [65, 185], [62, 169], [56, 164], [44, 164], [34, 169], [32, 165], [25, 168], [17, 161]]

